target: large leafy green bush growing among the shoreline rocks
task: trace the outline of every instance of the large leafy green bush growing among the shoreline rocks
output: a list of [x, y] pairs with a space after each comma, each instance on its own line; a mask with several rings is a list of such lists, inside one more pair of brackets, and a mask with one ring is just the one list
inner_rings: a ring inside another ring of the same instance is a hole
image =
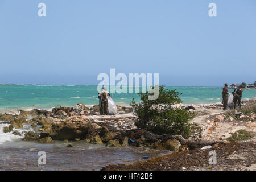
[[195, 115], [184, 108], [172, 107], [181, 102], [180, 94], [176, 90], [166, 89], [165, 86], [159, 86], [159, 97], [156, 100], [148, 100], [148, 92], [139, 93], [142, 102], [135, 103], [134, 98], [131, 102], [138, 116], [135, 125], [154, 134], [182, 135], [188, 138], [191, 135], [189, 121]]

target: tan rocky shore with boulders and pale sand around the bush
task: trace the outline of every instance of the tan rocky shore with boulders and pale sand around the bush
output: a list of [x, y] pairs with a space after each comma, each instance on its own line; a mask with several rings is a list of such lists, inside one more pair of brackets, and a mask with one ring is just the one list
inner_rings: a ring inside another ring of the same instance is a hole
[[[9, 127], [4, 128], [4, 132], [12, 132], [15, 135], [21, 134], [18, 131], [13, 131], [13, 128], [23, 128], [22, 124], [29, 123], [34, 131], [24, 134], [22, 140], [27, 141], [54, 143], [55, 140], [63, 142], [83, 140], [93, 144], [105, 144], [108, 147], [135, 146], [170, 150], [175, 152], [170, 155], [179, 154], [181, 156], [186, 152], [197, 154], [201, 152], [199, 151], [201, 147], [209, 145], [220, 144], [225, 148], [230, 145], [230, 133], [235, 133], [240, 129], [255, 133], [256, 129], [254, 113], [249, 115], [236, 113], [238, 117], [234, 119], [229, 117], [232, 110], [223, 111], [221, 104], [201, 106], [177, 104], [175, 107], [185, 107], [196, 113], [196, 117], [191, 121], [193, 131], [191, 137], [184, 139], [181, 135], [155, 135], [135, 126], [136, 116], [133, 114], [132, 107], [120, 105], [117, 107], [118, 114], [116, 115], [100, 115], [98, 105], [89, 109], [79, 103], [73, 107], [56, 107], [51, 111], [34, 109], [31, 111], [19, 110], [19, 114], [0, 114], [0, 120], [10, 123]], [[255, 135], [246, 142], [255, 144]], [[72, 147], [72, 145], [67, 144], [67, 147]], [[143, 165], [146, 165], [146, 162]], [[130, 168], [127, 166], [124, 168], [121, 165], [104, 169]], [[155, 168], [148, 167], [147, 169]]]

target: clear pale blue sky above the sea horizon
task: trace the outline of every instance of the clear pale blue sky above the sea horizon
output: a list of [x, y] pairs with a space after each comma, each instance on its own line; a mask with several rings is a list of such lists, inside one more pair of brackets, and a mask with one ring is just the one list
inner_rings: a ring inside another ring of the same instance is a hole
[[0, 0], [0, 24], [2, 84], [97, 85], [110, 68], [173, 86], [256, 80], [255, 0]]

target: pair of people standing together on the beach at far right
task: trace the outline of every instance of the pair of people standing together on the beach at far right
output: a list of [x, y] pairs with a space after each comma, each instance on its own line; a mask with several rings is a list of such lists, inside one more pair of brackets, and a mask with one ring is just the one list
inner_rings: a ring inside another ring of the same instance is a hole
[[[223, 110], [225, 110], [226, 107], [228, 106], [228, 99], [229, 99], [228, 84], [225, 84], [224, 86], [225, 87], [223, 88], [223, 91], [222, 91]], [[243, 92], [242, 88], [239, 88], [237, 90], [234, 89], [234, 91], [232, 92], [232, 95], [233, 95], [233, 107], [234, 107], [234, 109], [236, 109], [237, 105], [238, 105], [238, 107], [241, 108], [242, 92]]]

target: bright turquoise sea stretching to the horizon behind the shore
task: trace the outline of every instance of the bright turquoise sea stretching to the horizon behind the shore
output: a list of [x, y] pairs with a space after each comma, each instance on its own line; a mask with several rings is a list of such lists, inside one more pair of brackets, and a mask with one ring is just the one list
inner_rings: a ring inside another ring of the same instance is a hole
[[[221, 102], [221, 87], [167, 86], [181, 92], [184, 104], [213, 104]], [[233, 89], [229, 89], [232, 92]], [[90, 85], [0, 85], [0, 109], [49, 109], [57, 106], [73, 106], [78, 102], [92, 106], [98, 104], [97, 86]], [[137, 94], [113, 95], [116, 104], [129, 105]], [[244, 89], [243, 100], [256, 97], [255, 89]]]

